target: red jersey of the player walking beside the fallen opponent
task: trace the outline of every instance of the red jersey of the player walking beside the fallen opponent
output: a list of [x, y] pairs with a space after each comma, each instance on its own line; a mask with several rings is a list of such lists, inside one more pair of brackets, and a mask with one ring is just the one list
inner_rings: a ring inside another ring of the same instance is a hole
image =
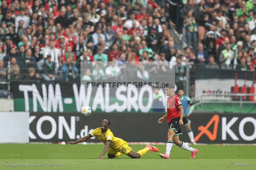
[[181, 99], [177, 94], [167, 98], [167, 122], [170, 122], [172, 118], [180, 117], [179, 106], [181, 106]]

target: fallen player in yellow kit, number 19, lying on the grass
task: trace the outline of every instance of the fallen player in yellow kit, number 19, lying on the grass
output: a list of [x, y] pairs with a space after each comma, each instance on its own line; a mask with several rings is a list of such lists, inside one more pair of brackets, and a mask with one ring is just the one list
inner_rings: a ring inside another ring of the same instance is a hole
[[131, 158], [140, 158], [148, 151], [158, 152], [158, 148], [150, 145], [146, 145], [146, 148], [139, 150], [135, 153], [123, 139], [114, 137], [113, 133], [109, 129], [110, 121], [108, 119], [104, 119], [101, 122], [100, 128], [94, 129], [89, 135], [85, 137], [81, 137], [75, 142], [67, 142], [66, 144], [76, 144], [80, 142], [84, 142], [90, 139], [93, 136], [96, 136], [100, 141], [104, 143], [105, 148], [103, 152], [100, 154], [98, 159], [102, 159], [104, 154], [108, 151], [108, 158], [117, 158], [121, 154], [126, 154]]

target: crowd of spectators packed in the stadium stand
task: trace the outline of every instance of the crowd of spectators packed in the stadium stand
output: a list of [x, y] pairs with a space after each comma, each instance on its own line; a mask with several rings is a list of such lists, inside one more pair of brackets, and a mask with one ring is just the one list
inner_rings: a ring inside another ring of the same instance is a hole
[[[81, 61], [96, 62], [81, 73], [84, 80], [111, 74], [109, 66], [97, 63], [106, 61], [116, 61], [113, 67], [118, 68], [142, 61], [152, 73], [175, 67], [179, 80], [187, 63], [191, 68], [254, 71], [255, 3], [1, 0], [0, 81], [7, 80], [8, 69], [11, 80], [69, 81], [80, 78]], [[187, 44], [184, 49], [171, 26]]]

